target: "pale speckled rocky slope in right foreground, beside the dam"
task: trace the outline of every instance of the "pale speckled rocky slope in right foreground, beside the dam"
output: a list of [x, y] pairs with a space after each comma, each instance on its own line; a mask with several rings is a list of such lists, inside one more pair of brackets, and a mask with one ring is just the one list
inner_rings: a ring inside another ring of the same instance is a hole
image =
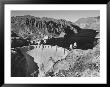
[[51, 71], [58, 77], [99, 77], [99, 44], [89, 50], [71, 50], [65, 59], [54, 65]]

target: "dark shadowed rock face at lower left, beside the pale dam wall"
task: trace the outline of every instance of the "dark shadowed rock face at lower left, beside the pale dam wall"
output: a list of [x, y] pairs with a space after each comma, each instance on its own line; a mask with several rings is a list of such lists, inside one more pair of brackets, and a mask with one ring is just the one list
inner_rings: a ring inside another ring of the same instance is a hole
[[15, 51], [16, 53], [11, 53], [11, 77], [37, 77], [39, 70], [33, 58], [24, 54], [19, 48]]

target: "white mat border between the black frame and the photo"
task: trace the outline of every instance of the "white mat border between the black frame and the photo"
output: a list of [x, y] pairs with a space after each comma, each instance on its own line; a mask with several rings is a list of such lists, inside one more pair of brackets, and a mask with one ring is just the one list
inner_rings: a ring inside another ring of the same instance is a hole
[[[5, 4], [4, 11], [4, 79], [5, 84], [106, 84], [107, 23], [106, 4]], [[100, 77], [11, 77], [11, 11], [12, 10], [100, 10]]]

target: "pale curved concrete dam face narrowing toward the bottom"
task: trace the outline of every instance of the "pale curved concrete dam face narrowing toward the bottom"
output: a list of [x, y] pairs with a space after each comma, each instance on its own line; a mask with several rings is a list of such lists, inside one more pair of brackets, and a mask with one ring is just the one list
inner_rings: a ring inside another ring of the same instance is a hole
[[64, 59], [68, 50], [50, 45], [34, 45], [34, 49], [27, 51], [27, 54], [34, 58], [34, 62], [38, 64], [39, 76], [44, 74], [52, 68], [54, 62]]

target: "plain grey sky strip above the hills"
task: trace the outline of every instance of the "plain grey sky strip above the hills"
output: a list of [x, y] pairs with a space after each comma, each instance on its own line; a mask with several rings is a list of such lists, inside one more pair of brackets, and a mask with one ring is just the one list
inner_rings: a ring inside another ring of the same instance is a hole
[[79, 18], [100, 16], [99, 10], [16, 10], [11, 11], [11, 16], [31, 15], [35, 17], [49, 17], [55, 19], [65, 19], [71, 22]]

